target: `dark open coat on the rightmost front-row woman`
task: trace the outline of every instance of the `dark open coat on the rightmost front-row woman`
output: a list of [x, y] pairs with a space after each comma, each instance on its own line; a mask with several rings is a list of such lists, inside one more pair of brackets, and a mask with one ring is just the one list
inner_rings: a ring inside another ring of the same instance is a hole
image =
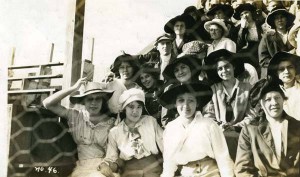
[[239, 137], [235, 161], [236, 176], [300, 176], [300, 121], [288, 120], [287, 154], [278, 161], [268, 121], [245, 126]]

